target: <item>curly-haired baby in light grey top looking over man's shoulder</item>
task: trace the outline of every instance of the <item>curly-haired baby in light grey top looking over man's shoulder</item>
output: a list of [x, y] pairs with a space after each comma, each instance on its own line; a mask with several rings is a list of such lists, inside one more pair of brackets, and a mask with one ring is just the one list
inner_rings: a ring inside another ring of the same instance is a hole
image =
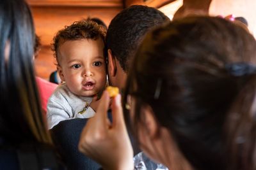
[[106, 29], [92, 20], [74, 22], [57, 32], [53, 50], [63, 83], [47, 104], [49, 129], [62, 120], [95, 114], [95, 96], [106, 86], [105, 37]]

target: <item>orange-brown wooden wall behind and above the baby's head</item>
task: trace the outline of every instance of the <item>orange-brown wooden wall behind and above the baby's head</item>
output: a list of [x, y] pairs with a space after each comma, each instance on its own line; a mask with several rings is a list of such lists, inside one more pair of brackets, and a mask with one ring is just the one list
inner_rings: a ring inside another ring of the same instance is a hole
[[42, 43], [35, 59], [36, 74], [45, 80], [49, 80], [49, 75], [56, 70], [51, 43], [58, 30], [87, 17], [98, 17], [109, 25], [111, 19], [123, 8], [119, 0], [29, 0], [28, 3], [33, 13], [36, 34]]

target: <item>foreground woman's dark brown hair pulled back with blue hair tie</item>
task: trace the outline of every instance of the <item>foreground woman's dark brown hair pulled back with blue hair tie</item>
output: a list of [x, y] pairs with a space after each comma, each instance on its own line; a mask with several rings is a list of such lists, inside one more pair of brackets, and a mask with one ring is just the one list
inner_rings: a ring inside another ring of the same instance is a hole
[[[194, 169], [255, 169], [256, 43], [222, 18], [188, 17], [150, 32], [124, 95], [134, 130], [148, 104]], [[125, 115], [127, 117], [127, 115]]]

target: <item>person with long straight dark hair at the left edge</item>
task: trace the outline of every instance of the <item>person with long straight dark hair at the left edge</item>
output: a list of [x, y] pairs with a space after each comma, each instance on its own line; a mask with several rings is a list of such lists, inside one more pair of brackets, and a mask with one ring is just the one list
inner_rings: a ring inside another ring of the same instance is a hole
[[36, 89], [31, 11], [1, 0], [0, 13], [0, 169], [58, 169]]

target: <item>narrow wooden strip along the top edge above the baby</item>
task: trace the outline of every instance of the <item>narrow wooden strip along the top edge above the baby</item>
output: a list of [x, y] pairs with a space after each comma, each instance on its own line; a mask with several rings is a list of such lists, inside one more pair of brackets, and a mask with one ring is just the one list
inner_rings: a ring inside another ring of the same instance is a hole
[[27, 0], [31, 6], [122, 7], [122, 0]]

